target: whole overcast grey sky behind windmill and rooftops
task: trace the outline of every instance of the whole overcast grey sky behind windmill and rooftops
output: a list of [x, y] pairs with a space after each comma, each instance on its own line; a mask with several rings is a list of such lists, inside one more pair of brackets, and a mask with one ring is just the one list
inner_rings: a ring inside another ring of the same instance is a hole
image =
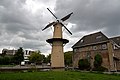
[[0, 0], [0, 51], [3, 48], [40, 50], [51, 53], [46, 39], [53, 29], [42, 31], [55, 21], [46, 8], [59, 18], [73, 12], [64, 24], [73, 33], [64, 30], [70, 40], [64, 51], [84, 35], [102, 31], [108, 37], [120, 36], [120, 0]]

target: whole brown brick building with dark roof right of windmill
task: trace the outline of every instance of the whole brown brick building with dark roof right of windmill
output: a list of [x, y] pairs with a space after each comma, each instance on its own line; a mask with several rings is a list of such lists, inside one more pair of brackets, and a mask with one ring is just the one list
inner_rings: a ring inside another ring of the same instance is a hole
[[91, 68], [94, 67], [96, 54], [102, 56], [102, 66], [109, 71], [120, 70], [120, 36], [108, 38], [102, 32], [83, 36], [73, 46], [73, 67], [78, 67], [80, 59], [88, 59]]

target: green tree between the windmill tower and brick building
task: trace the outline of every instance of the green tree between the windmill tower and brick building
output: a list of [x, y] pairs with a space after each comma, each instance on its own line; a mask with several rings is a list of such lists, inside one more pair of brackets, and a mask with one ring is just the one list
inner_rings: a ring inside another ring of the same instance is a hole
[[66, 66], [71, 66], [72, 65], [72, 51], [68, 51], [64, 53], [64, 61]]

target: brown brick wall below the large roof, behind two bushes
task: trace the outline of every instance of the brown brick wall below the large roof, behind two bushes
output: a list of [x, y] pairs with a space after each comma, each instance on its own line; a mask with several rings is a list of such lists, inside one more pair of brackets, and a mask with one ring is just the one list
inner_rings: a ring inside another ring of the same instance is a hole
[[78, 67], [78, 61], [80, 59], [87, 58], [87, 55], [90, 55], [90, 63], [91, 67], [94, 67], [94, 57], [96, 54], [100, 54], [103, 59], [102, 66], [109, 69], [109, 57], [108, 57], [108, 50], [107, 47], [102, 49], [103, 44], [87, 46], [82, 48], [76, 48], [73, 53], [73, 67]]

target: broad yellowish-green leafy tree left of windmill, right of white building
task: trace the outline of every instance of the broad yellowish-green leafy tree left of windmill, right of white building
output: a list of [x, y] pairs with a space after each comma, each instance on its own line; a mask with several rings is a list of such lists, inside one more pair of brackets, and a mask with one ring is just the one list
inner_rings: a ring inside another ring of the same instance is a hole
[[34, 63], [42, 63], [43, 59], [44, 59], [44, 55], [40, 54], [40, 52], [33, 52], [30, 56], [29, 56], [29, 60], [30, 62], [34, 62]]

